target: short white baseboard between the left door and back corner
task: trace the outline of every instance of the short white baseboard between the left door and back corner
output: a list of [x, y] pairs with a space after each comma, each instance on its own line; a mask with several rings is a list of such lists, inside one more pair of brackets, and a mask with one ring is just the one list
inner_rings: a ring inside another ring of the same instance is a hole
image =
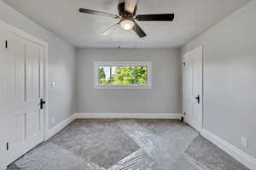
[[65, 119], [64, 121], [62, 121], [62, 122], [56, 124], [55, 127], [51, 127], [51, 128], [48, 130], [46, 139], [49, 139], [50, 137], [54, 136], [55, 133], [60, 132], [61, 129], [63, 129], [64, 127], [67, 127], [67, 125], [68, 125], [69, 123], [73, 122], [75, 119], [76, 119], [76, 114], [73, 114], [72, 116], [67, 117], [67, 119]]

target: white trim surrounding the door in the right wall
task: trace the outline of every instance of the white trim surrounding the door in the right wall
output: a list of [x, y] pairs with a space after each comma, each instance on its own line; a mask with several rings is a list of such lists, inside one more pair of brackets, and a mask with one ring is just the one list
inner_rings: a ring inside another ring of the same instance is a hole
[[[203, 46], [199, 46], [197, 48], [194, 48], [192, 50], [190, 50], [189, 52], [187, 52], [186, 54], [183, 54], [183, 64], [185, 63], [185, 56], [188, 55], [188, 54], [191, 54], [193, 52], [195, 52], [195, 50], [200, 50], [201, 51], [201, 64], [202, 64], [202, 71], [201, 71], [201, 77], [202, 77], [202, 84], [201, 84], [201, 105], [202, 105], [202, 111], [201, 111], [201, 118], [200, 118], [200, 129], [199, 129], [199, 132], [201, 133], [202, 129], [203, 129], [203, 108], [204, 108], [204, 94], [203, 94]], [[185, 71], [185, 67], [183, 66], [183, 82], [185, 80], [185, 75], [184, 75], [184, 71]], [[185, 90], [184, 90], [184, 83], [183, 83], [183, 116], [185, 117], [184, 115], [184, 112], [185, 112], [185, 101], [184, 101], [184, 93], [185, 93]], [[185, 119], [184, 119], [185, 120]]]

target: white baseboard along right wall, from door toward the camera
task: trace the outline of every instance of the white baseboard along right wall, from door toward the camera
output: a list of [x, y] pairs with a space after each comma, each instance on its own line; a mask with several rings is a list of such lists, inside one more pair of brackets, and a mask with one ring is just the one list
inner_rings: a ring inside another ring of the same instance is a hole
[[210, 140], [213, 144], [216, 144], [220, 149], [227, 152], [237, 161], [240, 161], [246, 167], [252, 170], [256, 169], [256, 159], [253, 156], [250, 156], [244, 151], [236, 148], [236, 146], [234, 146], [233, 144], [230, 144], [224, 139], [219, 138], [217, 135], [211, 133], [207, 129], [203, 129], [201, 131], [201, 135], [206, 139]]

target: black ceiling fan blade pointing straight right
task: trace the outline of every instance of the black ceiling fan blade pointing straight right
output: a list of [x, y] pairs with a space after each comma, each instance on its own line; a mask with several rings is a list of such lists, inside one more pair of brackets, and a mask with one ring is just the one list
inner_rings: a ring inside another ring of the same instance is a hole
[[174, 14], [139, 14], [136, 20], [140, 21], [172, 21]]

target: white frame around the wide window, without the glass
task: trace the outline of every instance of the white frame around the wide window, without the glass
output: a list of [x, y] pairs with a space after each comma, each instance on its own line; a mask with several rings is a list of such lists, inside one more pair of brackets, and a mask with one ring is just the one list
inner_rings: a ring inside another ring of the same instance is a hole
[[[131, 84], [131, 85], [101, 85], [98, 82], [98, 68], [100, 66], [146, 66], [148, 68], [148, 83], [145, 85]], [[94, 66], [94, 82], [96, 89], [149, 89], [152, 88], [152, 62], [151, 61], [95, 61]]]

